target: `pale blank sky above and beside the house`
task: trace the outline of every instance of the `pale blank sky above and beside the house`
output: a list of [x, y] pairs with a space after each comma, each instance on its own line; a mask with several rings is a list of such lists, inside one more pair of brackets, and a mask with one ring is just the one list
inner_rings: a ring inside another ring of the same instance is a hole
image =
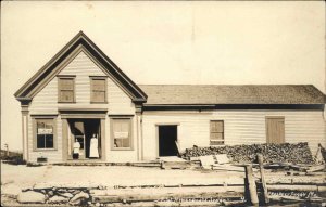
[[1, 148], [14, 92], [83, 30], [136, 83], [325, 86], [323, 1], [2, 1]]

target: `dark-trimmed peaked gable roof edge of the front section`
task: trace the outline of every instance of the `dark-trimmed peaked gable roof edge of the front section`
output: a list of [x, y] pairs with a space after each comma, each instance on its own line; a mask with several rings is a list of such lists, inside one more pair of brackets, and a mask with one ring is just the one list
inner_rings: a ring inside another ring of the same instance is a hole
[[40, 68], [25, 85], [16, 92], [18, 101], [32, 100], [41, 86], [59, 73], [59, 66], [78, 48], [89, 52], [95, 60], [120, 83], [134, 102], [146, 102], [147, 94], [128, 78], [83, 31], [79, 31], [61, 51], [59, 51], [42, 68]]

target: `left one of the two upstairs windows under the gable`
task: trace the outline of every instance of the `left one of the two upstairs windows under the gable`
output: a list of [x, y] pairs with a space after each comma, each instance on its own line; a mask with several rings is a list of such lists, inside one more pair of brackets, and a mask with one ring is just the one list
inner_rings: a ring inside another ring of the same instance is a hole
[[58, 101], [63, 103], [75, 102], [75, 77], [58, 77]]

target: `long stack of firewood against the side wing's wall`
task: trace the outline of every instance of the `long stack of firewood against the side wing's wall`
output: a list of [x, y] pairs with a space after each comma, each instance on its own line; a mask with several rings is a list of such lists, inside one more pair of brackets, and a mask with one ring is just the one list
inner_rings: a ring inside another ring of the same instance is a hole
[[251, 144], [251, 145], [226, 145], [187, 148], [183, 158], [227, 154], [233, 163], [255, 163], [256, 154], [264, 157], [264, 163], [291, 163], [291, 164], [313, 164], [314, 159], [306, 142], [296, 144]]

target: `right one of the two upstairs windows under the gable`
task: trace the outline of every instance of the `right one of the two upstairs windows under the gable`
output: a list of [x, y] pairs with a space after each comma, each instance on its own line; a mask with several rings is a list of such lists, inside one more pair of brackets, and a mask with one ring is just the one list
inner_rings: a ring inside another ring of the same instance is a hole
[[90, 77], [90, 102], [106, 103], [105, 77]]

